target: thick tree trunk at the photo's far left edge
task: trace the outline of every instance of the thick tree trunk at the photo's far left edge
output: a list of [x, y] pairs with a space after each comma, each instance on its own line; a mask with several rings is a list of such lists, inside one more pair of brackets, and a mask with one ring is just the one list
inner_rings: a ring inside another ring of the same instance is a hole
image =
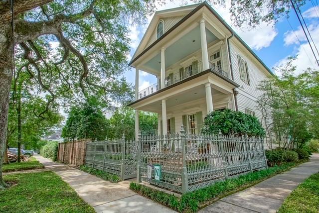
[[2, 179], [2, 163], [6, 149], [6, 130], [9, 106], [9, 92], [12, 80], [12, 45], [8, 26], [0, 25], [0, 189], [6, 185]]

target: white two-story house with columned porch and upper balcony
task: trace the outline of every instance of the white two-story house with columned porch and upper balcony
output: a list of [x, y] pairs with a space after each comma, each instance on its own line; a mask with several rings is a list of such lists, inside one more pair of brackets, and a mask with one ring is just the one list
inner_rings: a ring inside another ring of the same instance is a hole
[[[230, 108], [261, 119], [259, 82], [271, 70], [207, 3], [157, 11], [130, 64], [136, 69], [139, 110], [158, 113], [159, 134], [181, 124], [198, 134], [208, 112]], [[139, 91], [139, 71], [158, 81]]]

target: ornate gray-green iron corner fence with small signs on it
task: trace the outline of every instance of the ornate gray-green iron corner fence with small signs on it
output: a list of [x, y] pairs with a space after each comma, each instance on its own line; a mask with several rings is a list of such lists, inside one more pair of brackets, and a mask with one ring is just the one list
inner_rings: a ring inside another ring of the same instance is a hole
[[180, 134], [138, 140], [138, 182], [178, 193], [267, 168], [263, 138]]

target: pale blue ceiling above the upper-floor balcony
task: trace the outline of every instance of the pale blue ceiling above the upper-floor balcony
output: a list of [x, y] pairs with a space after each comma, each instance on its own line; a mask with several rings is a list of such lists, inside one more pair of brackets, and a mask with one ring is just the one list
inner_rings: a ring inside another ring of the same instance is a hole
[[[217, 37], [206, 29], [207, 43], [211, 43]], [[170, 67], [186, 56], [200, 50], [200, 29], [199, 25], [178, 39], [165, 50], [165, 67]], [[157, 71], [160, 74], [160, 52], [154, 58], [144, 64], [145, 68]]]

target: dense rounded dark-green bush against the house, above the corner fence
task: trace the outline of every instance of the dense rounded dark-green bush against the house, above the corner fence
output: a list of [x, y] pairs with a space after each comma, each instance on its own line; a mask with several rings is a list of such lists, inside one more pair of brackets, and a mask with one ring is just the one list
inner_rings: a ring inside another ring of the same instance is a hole
[[210, 112], [204, 120], [201, 132], [213, 135], [221, 132], [223, 135], [233, 136], [246, 134], [248, 137], [265, 135], [265, 130], [256, 117], [231, 109]]

